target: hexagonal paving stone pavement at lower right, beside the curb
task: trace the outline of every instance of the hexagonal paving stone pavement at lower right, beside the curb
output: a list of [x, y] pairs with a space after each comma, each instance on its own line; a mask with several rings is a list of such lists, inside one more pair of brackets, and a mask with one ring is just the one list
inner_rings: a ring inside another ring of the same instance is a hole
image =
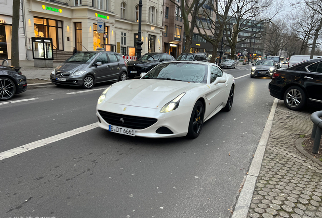
[[247, 217], [322, 217], [322, 165], [295, 147], [312, 131], [310, 115], [278, 101]]

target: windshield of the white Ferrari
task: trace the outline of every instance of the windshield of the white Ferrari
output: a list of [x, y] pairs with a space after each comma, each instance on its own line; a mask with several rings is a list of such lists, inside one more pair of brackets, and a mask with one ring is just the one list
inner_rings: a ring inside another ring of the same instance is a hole
[[194, 83], [207, 82], [208, 65], [196, 63], [164, 63], [154, 67], [143, 79], [164, 79]]

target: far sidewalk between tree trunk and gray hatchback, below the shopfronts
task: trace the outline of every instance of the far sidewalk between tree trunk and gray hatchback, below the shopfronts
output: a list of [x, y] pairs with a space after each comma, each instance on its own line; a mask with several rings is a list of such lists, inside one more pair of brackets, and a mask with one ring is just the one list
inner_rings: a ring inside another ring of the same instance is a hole
[[[11, 65], [11, 60], [8, 60], [9, 64]], [[50, 73], [52, 70], [60, 65], [61, 63], [54, 62], [54, 66], [52, 68], [38, 68], [34, 67], [34, 62], [29, 60], [20, 60], [20, 71], [23, 75], [27, 77], [27, 79], [43, 79], [43, 80], [50, 80]]]

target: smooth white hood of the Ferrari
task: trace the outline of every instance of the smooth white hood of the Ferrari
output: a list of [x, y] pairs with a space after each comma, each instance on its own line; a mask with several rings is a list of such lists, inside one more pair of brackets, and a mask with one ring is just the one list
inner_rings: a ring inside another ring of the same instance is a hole
[[105, 101], [137, 107], [162, 108], [182, 92], [187, 92], [198, 83], [181, 81], [139, 79], [113, 84]]

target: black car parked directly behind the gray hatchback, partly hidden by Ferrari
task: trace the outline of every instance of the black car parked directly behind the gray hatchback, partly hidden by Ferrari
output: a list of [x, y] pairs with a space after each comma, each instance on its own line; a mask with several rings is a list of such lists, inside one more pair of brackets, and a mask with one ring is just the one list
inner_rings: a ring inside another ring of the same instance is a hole
[[175, 58], [167, 53], [146, 53], [136, 61], [127, 63], [129, 78], [140, 76], [141, 73], [147, 73], [156, 65], [164, 62], [174, 61]]

